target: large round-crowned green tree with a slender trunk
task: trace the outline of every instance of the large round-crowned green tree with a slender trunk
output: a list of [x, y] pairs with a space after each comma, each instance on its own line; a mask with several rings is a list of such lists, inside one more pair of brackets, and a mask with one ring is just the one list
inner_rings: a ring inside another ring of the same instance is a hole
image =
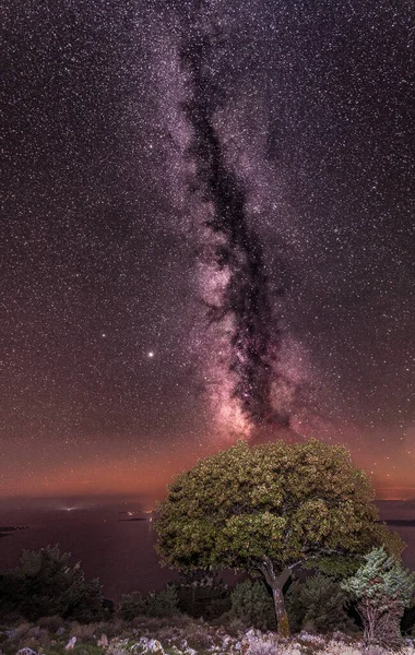
[[348, 452], [311, 439], [250, 448], [244, 441], [178, 475], [158, 505], [162, 561], [182, 572], [236, 569], [262, 574], [280, 634], [289, 626], [283, 587], [293, 568], [317, 556], [358, 557], [387, 544], [372, 487]]

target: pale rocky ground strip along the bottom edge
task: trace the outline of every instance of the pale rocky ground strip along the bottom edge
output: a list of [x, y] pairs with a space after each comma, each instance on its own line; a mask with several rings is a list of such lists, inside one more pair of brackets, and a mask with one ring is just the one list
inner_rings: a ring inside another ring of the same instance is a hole
[[[289, 640], [275, 633], [210, 626], [188, 617], [138, 618], [82, 626], [56, 617], [37, 624], [0, 628], [0, 655], [388, 655], [390, 650], [365, 651], [361, 636], [307, 632]], [[400, 654], [415, 655], [405, 640]]]

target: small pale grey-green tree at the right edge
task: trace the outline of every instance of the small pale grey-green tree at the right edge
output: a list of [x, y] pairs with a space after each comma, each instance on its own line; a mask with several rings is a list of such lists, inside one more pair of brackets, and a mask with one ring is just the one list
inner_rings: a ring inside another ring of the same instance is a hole
[[374, 548], [365, 562], [341, 586], [358, 599], [366, 644], [399, 647], [400, 622], [404, 608], [411, 605], [415, 574], [403, 569], [384, 548]]

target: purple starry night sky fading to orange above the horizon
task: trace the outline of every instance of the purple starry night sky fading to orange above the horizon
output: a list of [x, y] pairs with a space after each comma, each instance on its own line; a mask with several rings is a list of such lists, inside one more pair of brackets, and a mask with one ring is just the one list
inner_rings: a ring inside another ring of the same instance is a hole
[[412, 0], [4, 0], [0, 493], [239, 437], [415, 496]]

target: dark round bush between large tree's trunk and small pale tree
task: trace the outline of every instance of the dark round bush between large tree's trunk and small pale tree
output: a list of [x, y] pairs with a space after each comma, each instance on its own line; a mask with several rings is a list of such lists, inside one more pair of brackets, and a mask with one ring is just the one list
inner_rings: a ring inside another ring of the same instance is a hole
[[353, 622], [345, 607], [347, 599], [340, 583], [321, 573], [307, 577], [305, 582], [297, 580], [286, 595], [289, 624], [295, 632], [348, 632]]

